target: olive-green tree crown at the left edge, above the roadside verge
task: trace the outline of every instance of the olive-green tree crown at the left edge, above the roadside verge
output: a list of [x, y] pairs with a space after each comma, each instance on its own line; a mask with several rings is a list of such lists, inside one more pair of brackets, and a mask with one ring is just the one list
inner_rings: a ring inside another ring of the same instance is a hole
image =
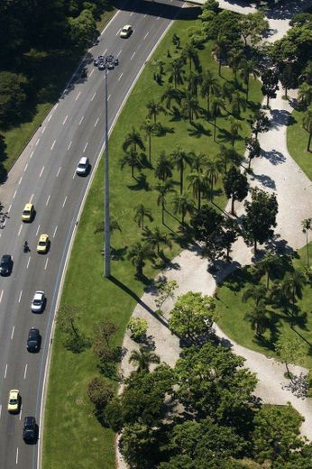
[[27, 78], [22, 74], [0, 71], [0, 125], [3, 128], [21, 119], [27, 100]]

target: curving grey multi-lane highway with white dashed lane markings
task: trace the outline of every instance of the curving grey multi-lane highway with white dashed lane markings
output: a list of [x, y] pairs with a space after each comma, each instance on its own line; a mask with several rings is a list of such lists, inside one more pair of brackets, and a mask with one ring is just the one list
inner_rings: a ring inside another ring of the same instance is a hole
[[[104, 72], [93, 66], [93, 57], [112, 53], [119, 59], [119, 65], [108, 72], [111, 128], [144, 62], [181, 7], [179, 0], [125, 3], [102, 32], [99, 44], [88, 51], [87, 78], [73, 77], [0, 188], [0, 201], [7, 212], [0, 230], [0, 255], [9, 253], [14, 259], [12, 274], [0, 278], [1, 469], [35, 469], [39, 465], [41, 442], [37, 445], [23, 442], [23, 418], [34, 416], [40, 423], [41, 395], [60, 280], [70, 240], [77, 229], [79, 209], [103, 147]], [[133, 34], [123, 40], [119, 31], [127, 23], [132, 24]], [[75, 173], [81, 156], [87, 156], [92, 165], [87, 178], [79, 178]], [[23, 224], [21, 213], [29, 201], [35, 206], [36, 216], [31, 224]], [[36, 252], [42, 233], [49, 234], [51, 242], [50, 251], [44, 255]], [[23, 240], [29, 243], [28, 253], [23, 253]], [[41, 314], [31, 311], [35, 290], [44, 290], [47, 296]], [[26, 350], [32, 326], [41, 331], [38, 354]], [[17, 415], [7, 412], [11, 389], [20, 390], [22, 396], [22, 409]]]

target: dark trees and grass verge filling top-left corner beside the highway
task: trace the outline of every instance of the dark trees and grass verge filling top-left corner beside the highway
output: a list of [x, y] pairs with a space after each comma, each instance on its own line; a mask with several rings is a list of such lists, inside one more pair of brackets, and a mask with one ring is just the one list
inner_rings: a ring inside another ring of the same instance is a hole
[[0, 182], [59, 99], [97, 29], [115, 13], [113, 4], [1, 3]]

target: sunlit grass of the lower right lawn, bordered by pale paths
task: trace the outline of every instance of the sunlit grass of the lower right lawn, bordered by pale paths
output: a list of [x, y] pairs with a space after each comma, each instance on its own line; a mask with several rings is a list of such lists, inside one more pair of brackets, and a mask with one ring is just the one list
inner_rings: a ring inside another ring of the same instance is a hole
[[[312, 243], [309, 244], [310, 252]], [[298, 251], [298, 258], [293, 260], [293, 266], [298, 270], [303, 270], [307, 265], [306, 247]], [[264, 281], [264, 279], [262, 280]], [[244, 318], [247, 311], [253, 308], [253, 301], [249, 299], [243, 303], [243, 291], [252, 284], [256, 284], [252, 278], [252, 267], [244, 267], [225, 280], [217, 291], [217, 311], [219, 314], [218, 325], [222, 330], [240, 345], [244, 345], [252, 350], [277, 357], [274, 351], [274, 343], [279, 336], [301, 336], [308, 344], [312, 343], [312, 289], [306, 285], [303, 290], [303, 298], [298, 300], [298, 317], [295, 326], [290, 327], [290, 317], [279, 308], [268, 306], [270, 311], [270, 326], [260, 340], [254, 336], [250, 323]], [[311, 348], [303, 364], [312, 367]]]

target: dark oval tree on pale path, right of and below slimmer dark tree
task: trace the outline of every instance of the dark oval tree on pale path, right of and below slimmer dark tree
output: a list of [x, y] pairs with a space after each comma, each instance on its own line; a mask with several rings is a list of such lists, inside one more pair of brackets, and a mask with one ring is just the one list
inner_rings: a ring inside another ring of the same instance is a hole
[[252, 189], [252, 201], [244, 202], [246, 214], [243, 217], [243, 237], [253, 242], [254, 252], [257, 244], [263, 244], [273, 234], [276, 226], [278, 202], [275, 194], [269, 195], [261, 189]]

